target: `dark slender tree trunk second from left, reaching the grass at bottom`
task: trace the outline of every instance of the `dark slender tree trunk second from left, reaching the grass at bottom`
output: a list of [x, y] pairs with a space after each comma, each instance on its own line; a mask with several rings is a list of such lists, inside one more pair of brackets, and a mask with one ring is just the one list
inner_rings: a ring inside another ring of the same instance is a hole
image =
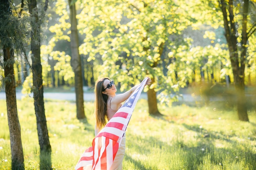
[[[31, 53], [32, 53], [32, 73], [33, 73], [33, 92], [34, 107], [36, 113], [36, 124], [38, 140], [40, 145], [40, 170], [51, 169], [51, 145], [49, 141], [47, 122], [45, 117], [45, 106], [43, 97], [43, 78], [42, 65], [40, 58], [40, 20], [38, 18], [38, 9], [36, 0], [29, 0], [29, 13], [31, 18]], [[47, 156], [45, 156], [47, 154]], [[47, 159], [46, 159], [47, 157]]]

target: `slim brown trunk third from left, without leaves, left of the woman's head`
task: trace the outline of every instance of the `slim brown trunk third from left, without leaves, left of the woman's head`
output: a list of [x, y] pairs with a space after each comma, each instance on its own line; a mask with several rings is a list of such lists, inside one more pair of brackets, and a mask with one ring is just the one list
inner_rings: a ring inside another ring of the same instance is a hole
[[71, 60], [72, 68], [75, 73], [75, 91], [76, 91], [76, 117], [77, 119], [85, 119], [84, 105], [83, 105], [83, 78], [81, 58], [79, 55], [79, 40], [76, 21], [76, 5], [71, 4], [72, 0], [69, 0], [70, 7], [70, 22], [71, 22]]

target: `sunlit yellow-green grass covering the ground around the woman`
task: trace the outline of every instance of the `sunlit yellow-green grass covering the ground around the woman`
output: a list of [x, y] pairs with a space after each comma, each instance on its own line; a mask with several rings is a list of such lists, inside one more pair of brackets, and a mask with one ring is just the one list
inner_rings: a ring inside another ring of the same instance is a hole
[[[256, 113], [238, 121], [236, 111], [216, 106], [159, 106], [162, 117], [148, 116], [139, 100], [126, 132], [124, 170], [255, 170]], [[32, 99], [17, 102], [26, 170], [39, 169], [40, 149]], [[0, 100], [0, 170], [11, 169], [6, 103]], [[74, 170], [94, 138], [93, 103], [88, 121], [76, 119], [72, 102], [46, 100], [45, 114], [54, 170]]]

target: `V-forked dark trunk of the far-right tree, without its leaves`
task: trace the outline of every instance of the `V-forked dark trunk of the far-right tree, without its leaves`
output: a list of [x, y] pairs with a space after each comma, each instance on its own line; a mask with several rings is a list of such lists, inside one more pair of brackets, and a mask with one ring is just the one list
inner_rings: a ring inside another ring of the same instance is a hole
[[[249, 7], [249, 0], [244, 0], [243, 3], [243, 19], [242, 19], [242, 41], [241, 41], [241, 55], [238, 55], [238, 41], [236, 22], [233, 13], [233, 0], [229, 0], [228, 4], [225, 0], [220, 1], [220, 8], [223, 14], [225, 37], [229, 47], [229, 57], [231, 60], [232, 71], [234, 75], [234, 82], [237, 96], [237, 113], [241, 121], [249, 121], [247, 114], [247, 105], [245, 97], [245, 60], [246, 60], [246, 44], [247, 44], [247, 14]], [[229, 17], [227, 14], [229, 13]]]

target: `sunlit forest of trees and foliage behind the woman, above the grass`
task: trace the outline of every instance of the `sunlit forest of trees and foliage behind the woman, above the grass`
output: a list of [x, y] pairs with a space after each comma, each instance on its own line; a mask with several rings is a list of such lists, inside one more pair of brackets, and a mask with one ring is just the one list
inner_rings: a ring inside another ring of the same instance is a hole
[[150, 115], [161, 115], [158, 105], [171, 106], [184, 90], [204, 104], [220, 97], [236, 107], [242, 121], [255, 109], [255, 0], [1, 4], [12, 17], [4, 20], [3, 14], [0, 39], [8, 121], [15, 117], [18, 123], [16, 98], [11, 98], [16, 88], [33, 92], [41, 151], [51, 151], [43, 87], [74, 88], [78, 119], [86, 119], [83, 86], [93, 91], [99, 77], [114, 79], [119, 91], [151, 77], [145, 89]]

